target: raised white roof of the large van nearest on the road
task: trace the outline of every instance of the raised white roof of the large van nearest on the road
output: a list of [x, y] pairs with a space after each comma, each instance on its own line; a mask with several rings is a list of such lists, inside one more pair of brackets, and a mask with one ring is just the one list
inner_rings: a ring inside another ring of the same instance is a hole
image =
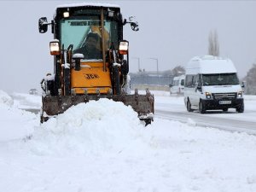
[[236, 67], [230, 59], [212, 55], [195, 56], [187, 67], [186, 74], [236, 73]]

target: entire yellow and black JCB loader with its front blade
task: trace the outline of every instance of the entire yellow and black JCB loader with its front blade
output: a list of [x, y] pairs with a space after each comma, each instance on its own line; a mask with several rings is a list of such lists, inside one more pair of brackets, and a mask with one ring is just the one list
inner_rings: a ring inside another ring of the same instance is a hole
[[41, 82], [41, 123], [81, 102], [112, 99], [130, 105], [146, 125], [154, 120], [154, 96], [141, 95], [129, 86], [129, 42], [123, 39], [123, 26], [138, 31], [137, 21], [123, 19], [118, 5], [78, 3], [58, 6], [51, 22], [38, 20], [40, 33], [51, 31], [49, 42], [54, 55], [54, 73]]

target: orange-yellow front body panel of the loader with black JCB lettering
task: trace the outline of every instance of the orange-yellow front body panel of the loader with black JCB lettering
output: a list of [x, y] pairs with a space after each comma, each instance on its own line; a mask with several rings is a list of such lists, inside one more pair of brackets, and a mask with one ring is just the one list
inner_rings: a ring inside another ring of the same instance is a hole
[[81, 62], [80, 66], [79, 71], [71, 69], [71, 89], [75, 94], [84, 94], [85, 90], [87, 94], [97, 94], [97, 91], [101, 94], [110, 92], [112, 89], [110, 72], [108, 67], [105, 72], [103, 71], [103, 62], [86, 61]]

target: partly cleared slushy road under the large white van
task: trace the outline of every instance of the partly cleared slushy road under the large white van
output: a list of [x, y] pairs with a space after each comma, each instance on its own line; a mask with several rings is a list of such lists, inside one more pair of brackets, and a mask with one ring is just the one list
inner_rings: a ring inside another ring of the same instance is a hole
[[158, 98], [156, 97], [155, 102], [156, 118], [256, 135], [255, 100], [245, 100], [246, 109], [244, 113], [236, 113], [235, 109], [230, 109], [228, 112], [207, 111], [207, 113], [201, 114], [198, 111], [187, 112], [182, 97], [160, 96]]

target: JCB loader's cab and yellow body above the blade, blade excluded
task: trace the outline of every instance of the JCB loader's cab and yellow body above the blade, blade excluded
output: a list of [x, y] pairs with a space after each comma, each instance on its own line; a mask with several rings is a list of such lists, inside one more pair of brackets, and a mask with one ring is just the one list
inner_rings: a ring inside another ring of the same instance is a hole
[[[55, 55], [55, 90], [50, 92], [54, 96], [83, 95], [84, 90], [119, 95], [129, 72], [129, 43], [123, 39], [127, 23], [138, 31], [133, 17], [123, 20], [118, 5], [105, 3], [58, 6], [50, 23], [40, 18], [39, 32], [47, 32], [50, 25], [54, 33], [49, 47]], [[92, 36], [96, 37], [93, 48], [88, 43]]]

